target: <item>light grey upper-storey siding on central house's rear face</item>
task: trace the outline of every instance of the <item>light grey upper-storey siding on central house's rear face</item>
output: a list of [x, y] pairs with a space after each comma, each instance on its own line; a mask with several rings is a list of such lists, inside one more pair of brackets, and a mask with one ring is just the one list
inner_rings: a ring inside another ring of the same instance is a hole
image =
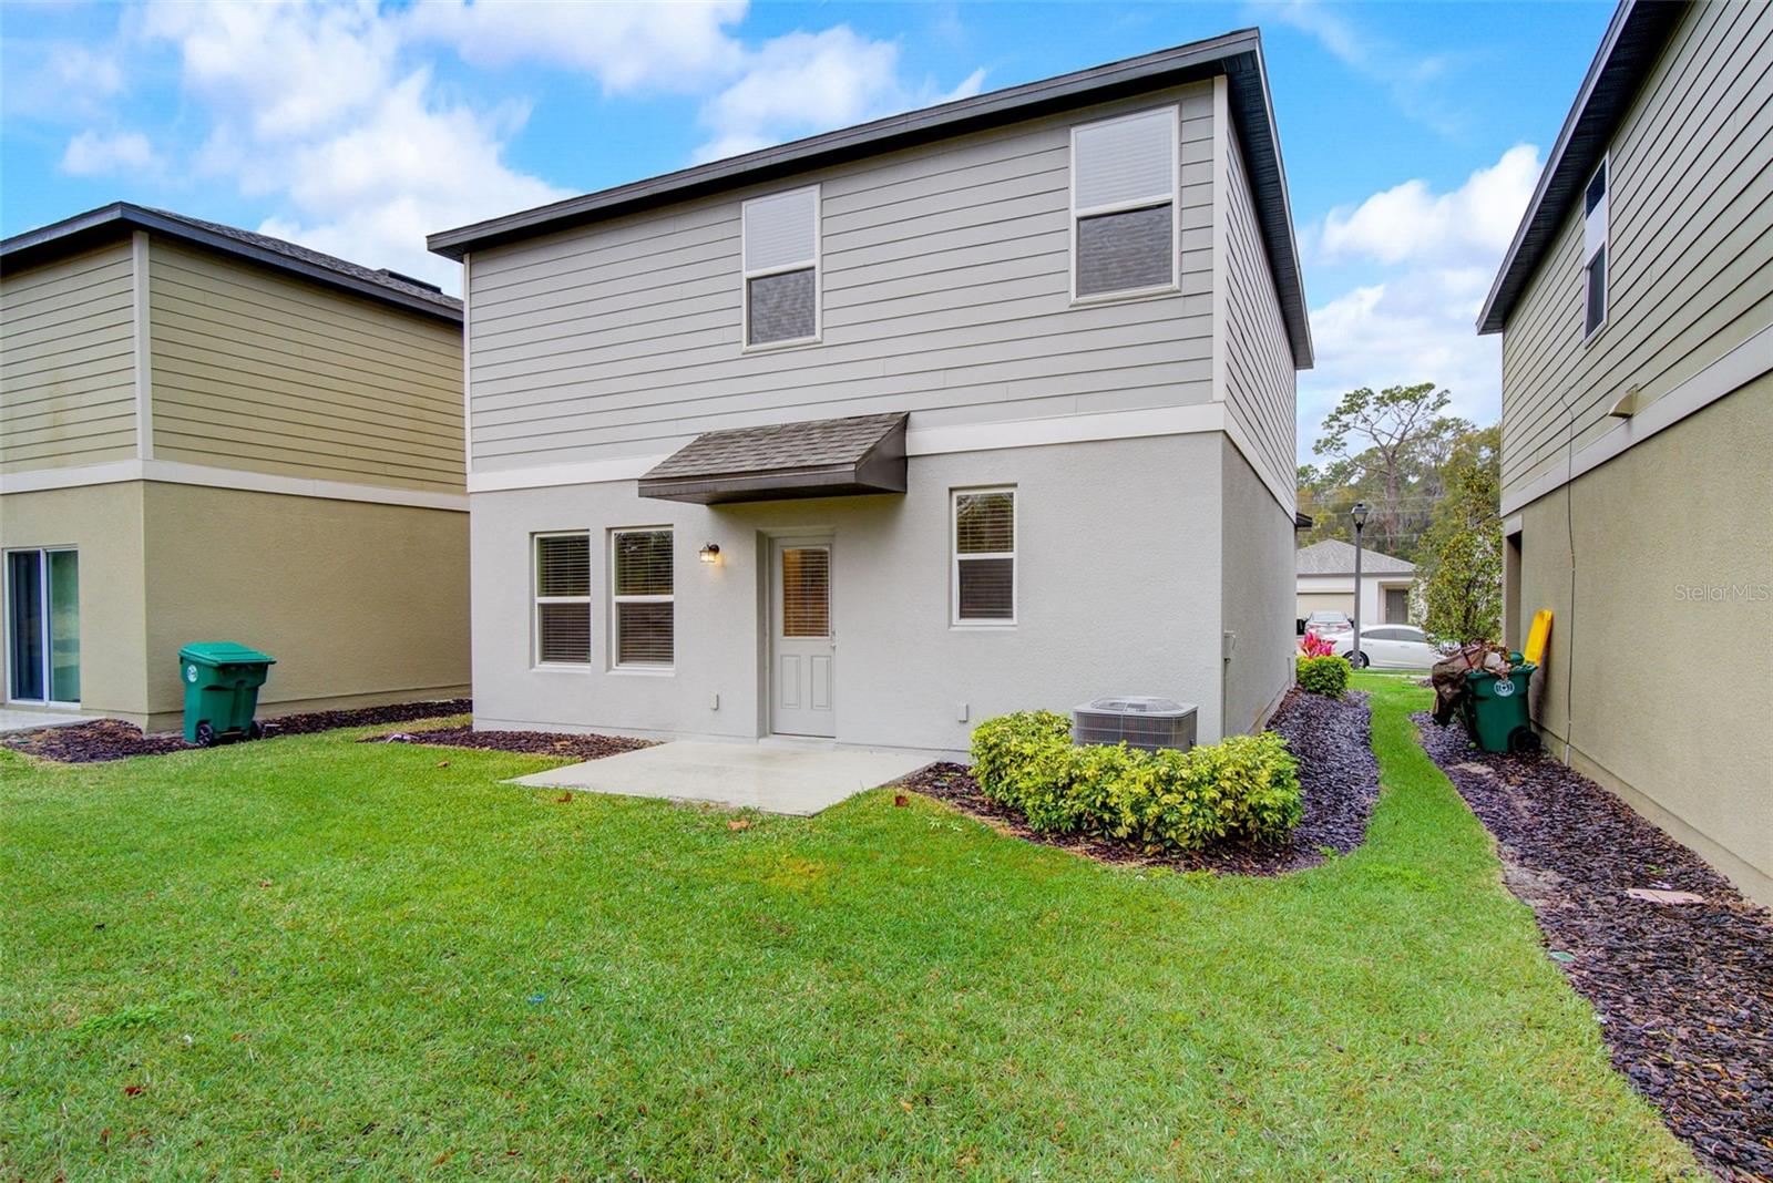
[[[1071, 306], [1069, 129], [1181, 103], [1183, 292]], [[475, 469], [718, 427], [924, 425], [1211, 398], [1213, 103], [1195, 85], [475, 253]], [[745, 354], [739, 205], [823, 184], [821, 345]]]

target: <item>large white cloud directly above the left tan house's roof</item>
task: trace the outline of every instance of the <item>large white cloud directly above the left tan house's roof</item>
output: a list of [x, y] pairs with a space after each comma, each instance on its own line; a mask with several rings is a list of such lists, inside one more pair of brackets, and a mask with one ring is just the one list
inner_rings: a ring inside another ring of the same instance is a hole
[[502, 159], [527, 112], [445, 99], [371, 4], [163, 4], [145, 28], [209, 104], [199, 170], [280, 205], [266, 234], [454, 289], [426, 234], [567, 197]]

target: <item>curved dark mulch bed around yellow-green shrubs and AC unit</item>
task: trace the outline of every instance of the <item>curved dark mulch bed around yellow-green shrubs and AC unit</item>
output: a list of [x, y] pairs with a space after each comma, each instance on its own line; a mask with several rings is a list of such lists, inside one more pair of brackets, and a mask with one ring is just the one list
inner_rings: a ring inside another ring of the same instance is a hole
[[927, 797], [956, 806], [995, 829], [1046, 847], [1060, 847], [1099, 862], [1167, 866], [1183, 871], [1282, 875], [1324, 861], [1326, 852], [1347, 854], [1367, 836], [1367, 818], [1379, 797], [1379, 765], [1372, 758], [1367, 696], [1351, 691], [1335, 701], [1298, 689], [1275, 712], [1268, 730], [1285, 737], [1300, 758], [1305, 818], [1285, 843], [1227, 843], [1190, 854], [1149, 855], [1128, 843], [1089, 834], [1037, 834], [1019, 809], [979, 792], [966, 765], [933, 763], [899, 781]]

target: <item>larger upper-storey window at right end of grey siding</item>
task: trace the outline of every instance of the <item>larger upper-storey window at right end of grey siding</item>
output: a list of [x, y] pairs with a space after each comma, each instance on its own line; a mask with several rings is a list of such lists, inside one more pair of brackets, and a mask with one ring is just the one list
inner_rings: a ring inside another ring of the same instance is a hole
[[1071, 298], [1147, 296], [1181, 283], [1181, 112], [1071, 129]]

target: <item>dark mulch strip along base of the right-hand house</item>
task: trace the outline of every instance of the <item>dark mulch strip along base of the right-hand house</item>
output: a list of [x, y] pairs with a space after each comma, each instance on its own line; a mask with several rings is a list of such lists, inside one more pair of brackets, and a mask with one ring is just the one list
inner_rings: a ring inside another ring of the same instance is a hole
[[[1417, 724], [1599, 1013], [1613, 1066], [1718, 1174], [1773, 1178], [1773, 917], [1551, 756], [1489, 754], [1457, 724]], [[1651, 903], [1628, 887], [1706, 900]]]

